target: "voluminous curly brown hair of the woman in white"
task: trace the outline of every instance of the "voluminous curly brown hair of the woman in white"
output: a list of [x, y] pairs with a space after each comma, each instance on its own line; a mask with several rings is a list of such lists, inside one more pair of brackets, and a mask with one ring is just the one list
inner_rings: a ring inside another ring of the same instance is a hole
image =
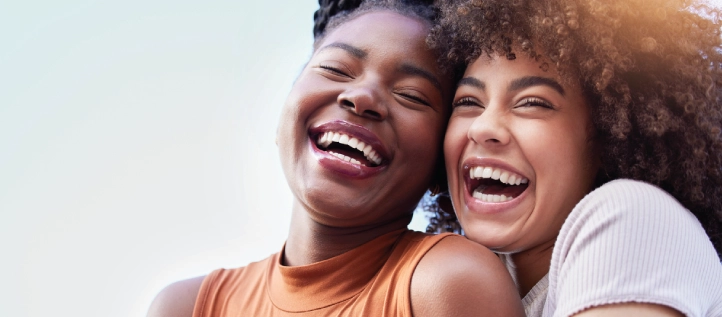
[[[592, 109], [597, 186], [630, 178], [672, 194], [722, 251], [719, 9], [685, 0], [466, 0], [429, 43], [463, 67], [526, 54], [578, 81]], [[428, 231], [458, 228], [436, 211]], [[458, 230], [457, 230], [458, 231]]]

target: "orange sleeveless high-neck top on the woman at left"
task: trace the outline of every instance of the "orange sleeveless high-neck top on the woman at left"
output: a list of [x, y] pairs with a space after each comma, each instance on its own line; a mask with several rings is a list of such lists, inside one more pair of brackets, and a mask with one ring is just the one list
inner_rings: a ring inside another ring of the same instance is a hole
[[450, 236], [462, 238], [398, 230], [310, 265], [283, 266], [281, 251], [216, 270], [201, 284], [193, 317], [411, 316], [414, 269]]

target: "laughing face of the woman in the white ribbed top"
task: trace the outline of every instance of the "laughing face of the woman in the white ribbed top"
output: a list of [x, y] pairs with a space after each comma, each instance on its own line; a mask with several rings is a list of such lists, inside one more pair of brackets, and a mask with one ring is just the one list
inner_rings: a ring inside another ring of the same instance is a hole
[[597, 171], [589, 107], [554, 69], [481, 57], [454, 96], [444, 143], [466, 235], [501, 252], [553, 245]]

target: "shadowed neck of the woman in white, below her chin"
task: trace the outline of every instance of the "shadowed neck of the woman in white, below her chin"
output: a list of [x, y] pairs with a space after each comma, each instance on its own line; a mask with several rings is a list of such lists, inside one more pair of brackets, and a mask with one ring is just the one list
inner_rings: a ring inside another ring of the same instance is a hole
[[522, 298], [549, 273], [551, 266], [554, 240], [539, 245], [533, 249], [511, 254], [512, 270], [516, 276], [519, 295]]

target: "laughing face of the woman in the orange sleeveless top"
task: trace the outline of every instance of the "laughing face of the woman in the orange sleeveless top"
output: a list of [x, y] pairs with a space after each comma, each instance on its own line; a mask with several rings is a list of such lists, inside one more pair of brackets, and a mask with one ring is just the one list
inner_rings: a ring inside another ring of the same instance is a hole
[[428, 32], [417, 19], [372, 11], [317, 45], [278, 128], [294, 208], [335, 227], [415, 208], [440, 158], [451, 91]]

